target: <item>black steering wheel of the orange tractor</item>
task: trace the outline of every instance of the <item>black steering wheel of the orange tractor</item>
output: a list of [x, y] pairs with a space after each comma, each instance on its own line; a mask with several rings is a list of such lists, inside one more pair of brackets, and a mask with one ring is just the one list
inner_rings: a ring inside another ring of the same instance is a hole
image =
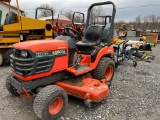
[[67, 35], [69, 35], [71, 38], [77, 38], [80, 36], [80, 33], [76, 30], [74, 30], [71, 27], [65, 27], [64, 31]]

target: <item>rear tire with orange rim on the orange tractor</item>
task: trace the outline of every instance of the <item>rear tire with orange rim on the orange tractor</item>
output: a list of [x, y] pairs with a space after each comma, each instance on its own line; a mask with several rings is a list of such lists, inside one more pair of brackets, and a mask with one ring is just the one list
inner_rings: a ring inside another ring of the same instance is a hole
[[108, 82], [111, 82], [114, 76], [114, 71], [114, 61], [111, 58], [102, 57], [96, 69], [92, 71], [92, 76], [98, 80], [106, 78]]

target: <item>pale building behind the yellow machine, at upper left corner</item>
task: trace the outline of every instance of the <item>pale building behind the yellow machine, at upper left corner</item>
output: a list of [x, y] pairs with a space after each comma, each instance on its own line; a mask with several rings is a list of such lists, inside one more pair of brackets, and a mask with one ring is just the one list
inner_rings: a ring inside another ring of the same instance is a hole
[[[11, 6], [11, 11], [17, 13], [17, 8], [14, 6]], [[5, 2], [0, 1], [0, 25], [4, 23], [4, 20], [6, 18], [6, 14], [9, 12], [8, 4]], [[20, 10], [21, 14], [24, 14], [23, 10]]]

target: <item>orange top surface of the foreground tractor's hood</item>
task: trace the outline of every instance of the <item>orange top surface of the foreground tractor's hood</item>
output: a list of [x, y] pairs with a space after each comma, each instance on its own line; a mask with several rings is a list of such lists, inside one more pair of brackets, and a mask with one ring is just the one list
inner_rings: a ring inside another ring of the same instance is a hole
[[67, 43], [63, 40], [34, 40], [16, 43], [13, 48], [31, 50], [33, 52], [66, 49]]

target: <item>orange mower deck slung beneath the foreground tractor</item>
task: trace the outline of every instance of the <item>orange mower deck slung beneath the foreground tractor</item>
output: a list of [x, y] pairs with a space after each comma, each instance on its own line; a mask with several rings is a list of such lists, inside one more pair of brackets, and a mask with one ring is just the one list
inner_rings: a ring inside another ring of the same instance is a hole
[[90, 99], [93, 102], [100, 102], [109, 93], [106, 83], [91, 77], [63, 80], [56, 82], [55, 85], [62, 87], [69, 95], [81, 99]]

